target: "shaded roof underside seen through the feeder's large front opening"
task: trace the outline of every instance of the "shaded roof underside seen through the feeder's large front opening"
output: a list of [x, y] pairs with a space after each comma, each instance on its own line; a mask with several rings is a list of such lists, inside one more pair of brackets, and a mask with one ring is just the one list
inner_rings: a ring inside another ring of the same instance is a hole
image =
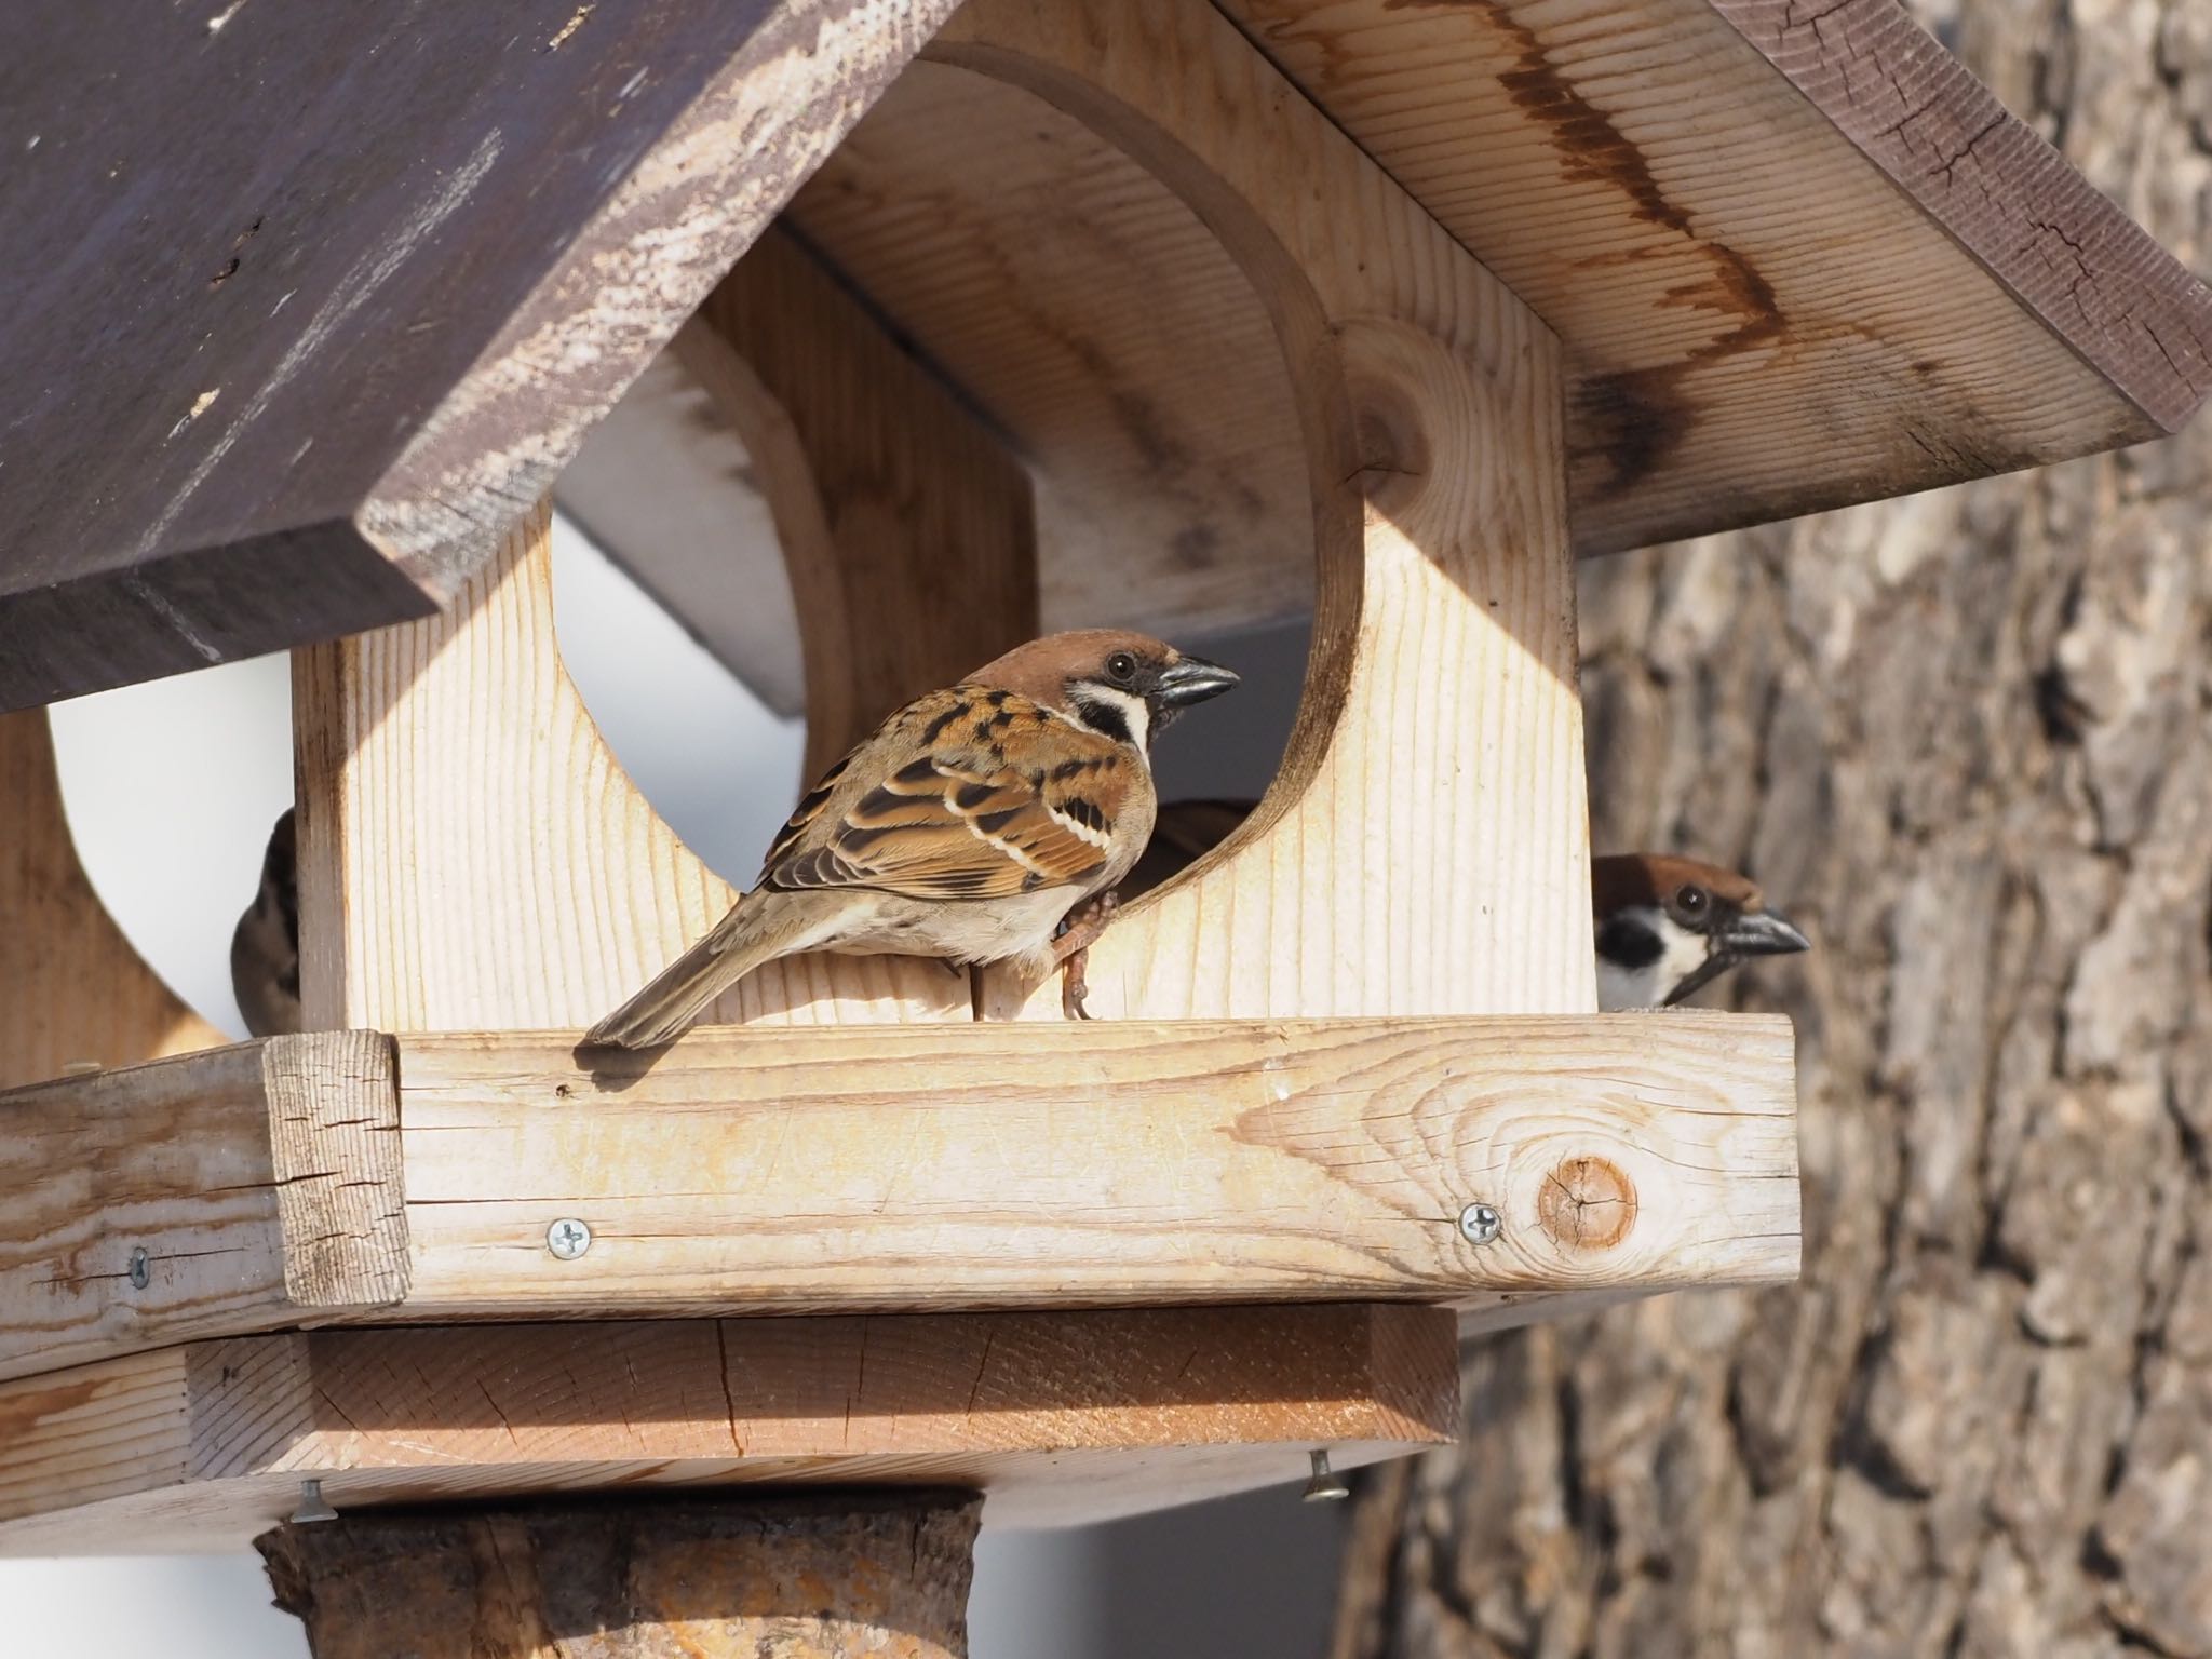
[[1035, 467], [1048, 628], [1190, 639], [1312, 606], [1305, 453], [1267, 307], [1110, 137], [922, 60], [787, 219]]

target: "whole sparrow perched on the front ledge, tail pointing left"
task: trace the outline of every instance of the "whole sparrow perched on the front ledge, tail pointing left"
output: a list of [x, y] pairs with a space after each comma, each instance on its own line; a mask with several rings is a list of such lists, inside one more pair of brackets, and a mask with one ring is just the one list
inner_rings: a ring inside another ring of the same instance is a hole
[[1152, 834], [1152, 739], [1237, 675], [1108, 628], [1009, 650], [891, 714], [816, 783], [761, 878], [586, 1046], [657, 1048], [799, 951], [1018, 962], [1082, 951]]

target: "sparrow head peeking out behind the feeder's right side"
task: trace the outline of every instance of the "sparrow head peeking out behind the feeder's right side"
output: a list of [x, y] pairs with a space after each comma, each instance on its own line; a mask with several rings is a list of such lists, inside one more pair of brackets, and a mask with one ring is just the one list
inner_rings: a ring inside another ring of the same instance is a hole
[[1681, 1002], [1747, 956], [1812, 949], [1743, 876], [1694, 858], [1624, 854], [1590, 863], [1597, 1006]]

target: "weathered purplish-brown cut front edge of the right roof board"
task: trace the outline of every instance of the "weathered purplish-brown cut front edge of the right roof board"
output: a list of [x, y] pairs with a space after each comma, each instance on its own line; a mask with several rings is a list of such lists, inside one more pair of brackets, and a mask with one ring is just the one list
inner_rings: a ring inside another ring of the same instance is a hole
[[2212, 392], [2212, 290], [1896, 0], [1708, 0], [1860, 155], [2146, 418]]

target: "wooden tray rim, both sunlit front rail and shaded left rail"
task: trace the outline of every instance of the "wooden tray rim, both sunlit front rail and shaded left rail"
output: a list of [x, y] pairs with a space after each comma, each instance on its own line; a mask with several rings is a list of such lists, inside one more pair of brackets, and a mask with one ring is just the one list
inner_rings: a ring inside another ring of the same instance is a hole
[[1798, 1265], [1778, 1018], [728, 1026], [602, 1071], [573, 1042], [319, 1033], [0, 1095], [0, 1376], [363, 1321], [1528, 1321]]

